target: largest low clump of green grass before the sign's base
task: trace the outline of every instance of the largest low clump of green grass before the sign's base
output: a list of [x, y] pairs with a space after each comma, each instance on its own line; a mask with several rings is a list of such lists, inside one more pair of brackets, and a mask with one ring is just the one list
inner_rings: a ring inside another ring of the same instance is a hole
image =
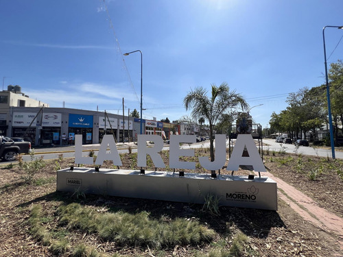
[[174, 221], [150, 219], [148, 212], [96, 212], [80, 204], [60, 206], [56, 212], [60, 225], [96, 233], [104, 241], [118, 245], [154, 248], [175, 245], [198, 245], [211, 241], [214, 231], [198, 221], [177, 218]]

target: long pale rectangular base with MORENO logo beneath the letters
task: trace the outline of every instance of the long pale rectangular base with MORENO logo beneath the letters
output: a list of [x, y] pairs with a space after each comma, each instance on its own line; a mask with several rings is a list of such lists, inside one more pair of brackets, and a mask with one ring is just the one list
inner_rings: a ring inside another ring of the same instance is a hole
[[77, 168], [57, 171], [57, 191], [113, 195], [204, 204], [208, 194], [220, 199], [220, 206], [277, 210], [276, 182], [267, 177], [248, 180], [246, 176], [124, 169]]

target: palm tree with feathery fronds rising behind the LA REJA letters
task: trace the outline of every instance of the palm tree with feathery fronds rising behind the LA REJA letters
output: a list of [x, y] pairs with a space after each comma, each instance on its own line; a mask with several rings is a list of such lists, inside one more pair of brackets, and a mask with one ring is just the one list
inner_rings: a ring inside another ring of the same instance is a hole
[[[229, 108], [237, 108], [240, 106], [242, 110], [248, 110], [248, 103], [244, 98], [235, 92], [230, 91], [227, 83], [223, 82], [220, 86], [211, 84], [211, 96], [207, 96], [205, 88], [198, 87], [195, 90], [191, 90], [183, 103], [185, 104], [186, 110], [191, 109], [191, 117], [195, 120], [204, 117], [209, 121], [209, 136], [210, 136], [210, 154], [211, 162], [215, 159], [214, 148], [213, 148], [213, 129], [218, 119], [222, 117]], [[211, 171], [211, 177], [215, 178], [215, 171]]]

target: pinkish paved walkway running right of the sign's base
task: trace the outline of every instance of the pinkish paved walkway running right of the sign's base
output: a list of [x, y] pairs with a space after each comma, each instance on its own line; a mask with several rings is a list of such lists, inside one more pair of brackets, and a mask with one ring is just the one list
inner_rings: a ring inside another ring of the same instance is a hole
[[298, 212], [303, 219], [313, 223], [329, 234], [338, 236], [338, 244], [343, 251], [342, 218], [319, 207], [313, 199], [298, 191], [294, 186], [290, 186], [280, 178], [276, 178], [272, 173], [266, 172], [265, 175], [277, 183], [279, 197], [289, 204], [293, 210]]

